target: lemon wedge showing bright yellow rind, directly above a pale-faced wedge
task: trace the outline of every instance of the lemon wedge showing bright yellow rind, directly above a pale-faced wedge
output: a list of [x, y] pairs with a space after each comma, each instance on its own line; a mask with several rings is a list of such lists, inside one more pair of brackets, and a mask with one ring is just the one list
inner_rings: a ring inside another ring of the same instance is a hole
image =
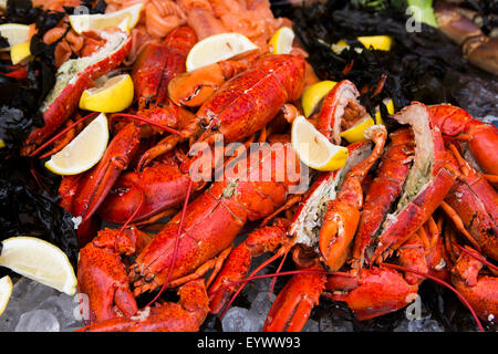
[[100, 87], [85, 90], [80, 98], [80, 108], [94, 112], [121, 112], [133, 102], [133, 81], [128, 74], [111, 77]]

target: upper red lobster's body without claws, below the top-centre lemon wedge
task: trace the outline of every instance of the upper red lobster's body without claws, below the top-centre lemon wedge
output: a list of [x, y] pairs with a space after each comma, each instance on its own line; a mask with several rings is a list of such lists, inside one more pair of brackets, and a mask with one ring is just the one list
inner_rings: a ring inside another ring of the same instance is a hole
[[287, 102], [304, 88], [305, 65], [300, 55], [269, 55], [227, 81], [197, 112], [210, 131], [200, 140], [211, 144], [214, 134], [226, 143], [240, 140], [263, 128]]

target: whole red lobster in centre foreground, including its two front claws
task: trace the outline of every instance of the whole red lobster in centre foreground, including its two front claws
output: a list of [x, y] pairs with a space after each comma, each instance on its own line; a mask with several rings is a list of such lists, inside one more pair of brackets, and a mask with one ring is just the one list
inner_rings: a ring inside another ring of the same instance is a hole
[[[300, 162], [289, 145], [272, 144], [259, 156], [259, 160], [243, 159], [237, 173], [215, 181], [185, 214], [176, 215], [141, 250], [128, 271], [120, 257], [136, 251], [143, 239], [135, 228], [101, 231], [85, 246], [80, 256], [79, 285], [80, 292], [89, 295], [90, 317], [96, 323], [82, 331], [198, 329], [209, 310], [204, 280], [198, 279], [210, 269], [219, 269], [247, 221], [271, 215], [300, 183]], [[282, 170], [284, 179], [280, 180]], [[267, 171], [270, 179], [261, 180]], [[128, 279], [135, 295], [160, 285], [184, 284], [180, 304], [146, 308], [138, 313]], [[144, 312], [148, 316], [142, 315]]]

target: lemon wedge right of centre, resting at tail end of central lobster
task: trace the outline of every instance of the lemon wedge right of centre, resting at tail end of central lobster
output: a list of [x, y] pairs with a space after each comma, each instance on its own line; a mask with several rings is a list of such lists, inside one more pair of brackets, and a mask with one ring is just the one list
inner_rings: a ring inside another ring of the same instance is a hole
[[334, 145], [300, 115], [292, 122], [292, 147], [302, 163], [318, 170], [335, 170], [345, 165], [347, 148]]

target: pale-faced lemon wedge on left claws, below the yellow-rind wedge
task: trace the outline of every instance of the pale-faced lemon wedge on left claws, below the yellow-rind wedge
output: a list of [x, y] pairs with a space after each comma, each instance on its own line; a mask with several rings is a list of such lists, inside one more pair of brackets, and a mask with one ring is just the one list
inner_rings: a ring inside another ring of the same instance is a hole
[[58, 175], [81, 174], [98, 163], [107, 142], [107, 118], [101, 113], [70, 144], [52, 155], [45, 167]]

